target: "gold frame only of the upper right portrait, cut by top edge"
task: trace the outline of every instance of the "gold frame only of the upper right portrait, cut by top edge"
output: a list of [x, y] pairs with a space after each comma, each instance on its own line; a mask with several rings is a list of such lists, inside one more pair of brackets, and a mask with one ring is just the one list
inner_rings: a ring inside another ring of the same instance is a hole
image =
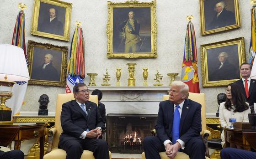
[[240, 15], [240, 7], [239, 7], [239, 0], [234, 0], [235, 4], [235, 21], [236, 24], [230, 25], [230, 26], [224, 26], [217, 29], [212, 30], [205, 30], [205, 16], [204, 16], [204, 0], [199, 0], [199, 8], [200, 8], [200, 29], [201, 29], [201, 35], [207, 35], [207, 34], [213, 34], [221, 31], [227, 31], [235, 28], [241, 27], [241, 15]]

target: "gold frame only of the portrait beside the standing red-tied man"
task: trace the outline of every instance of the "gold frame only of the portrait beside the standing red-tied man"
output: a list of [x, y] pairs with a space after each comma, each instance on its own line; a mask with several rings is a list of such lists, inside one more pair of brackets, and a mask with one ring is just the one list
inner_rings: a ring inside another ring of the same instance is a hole
[[[221, 81], [209, 81], [208, 80], [208, 63], [207, 63], [207, 50], [212, 48], [218, 48], [223, 46], [237, 45], [237, 56], [239, 59], [239, 67], [245, 62], [245, 40], [244, 37], [230, 39], [226, 41], [219, 41], [210, 44], [201, 45], [201, 63], [202, 63], [202, 81], [203, 87], [221, 87], [227, 86], [239, 79], [221, 80]], [[241, 76], [241, 75], [240, 75]]]

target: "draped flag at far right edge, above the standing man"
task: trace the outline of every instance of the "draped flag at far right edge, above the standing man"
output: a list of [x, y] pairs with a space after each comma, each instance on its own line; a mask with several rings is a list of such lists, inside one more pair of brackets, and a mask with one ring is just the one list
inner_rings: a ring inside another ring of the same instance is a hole
[[255, 5], [251, 8], [251, 42], [250, 42], [250, 49], [249, 49], [249, 63], [253, 64], [255, 53], [256, 53], [256, 30], [255, 30], [255, 23], [256, 23], [256, 12], [255, 12]]

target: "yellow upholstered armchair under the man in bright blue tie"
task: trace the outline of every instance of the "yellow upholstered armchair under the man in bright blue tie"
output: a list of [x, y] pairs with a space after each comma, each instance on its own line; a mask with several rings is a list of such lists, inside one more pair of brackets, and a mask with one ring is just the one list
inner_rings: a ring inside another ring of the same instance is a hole
[[[206, 114], [205, 114], [205, 96], [204, 93], [191, 93], [189, 92], [189, 99], [200, 103], [202, 105], [202, 109], [201, 109], [201, 116], [202, 116], [202, 132], [201, 135], [203, 136], [203, 142], [205, 144], [205, 159], [209, 159], [209, 150], [208, 150], [208, 142], [207, 142], [207, 138], [208, 136], [211, 134], [210, 131], [206, 130]], [[169, 100], [169, 95], [163, 95], [163, 100]], [[155, 136], [156, 131], [151, 130], [150, 133], [152, 135]], [[165, 152], [160, 152], [160, 157], [161, 159], [170, 159], [169, 157], [166, 156]], [[146, 159], [145, 158], [145, 154], [144, 152], [142, 153], [142, 159]], [[178, 154], [176, 155], [176, 157], [174, 159], [189, 159], [189, 156], [185, 153], [182, 152], [178, 152]]]

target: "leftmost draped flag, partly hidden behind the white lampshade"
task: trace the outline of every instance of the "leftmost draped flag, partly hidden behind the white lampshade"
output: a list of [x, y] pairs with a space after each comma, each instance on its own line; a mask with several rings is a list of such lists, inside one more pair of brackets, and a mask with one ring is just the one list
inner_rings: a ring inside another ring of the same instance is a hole
[[[25, 43], [25, 13], [21, 10], [17, 16], [16, 24], [12, 35], [12, 45], [19, 46], [24, 51], [24, 56], [27, 61], [27, 51]], [[11, 107], [12, 116], [19, 115], [21, 106], [27, 90], [26, 81], [16, 81], [16, 84], [12, 87], [13, 95], [11, 99], [7, 100], [6, 105]]]

